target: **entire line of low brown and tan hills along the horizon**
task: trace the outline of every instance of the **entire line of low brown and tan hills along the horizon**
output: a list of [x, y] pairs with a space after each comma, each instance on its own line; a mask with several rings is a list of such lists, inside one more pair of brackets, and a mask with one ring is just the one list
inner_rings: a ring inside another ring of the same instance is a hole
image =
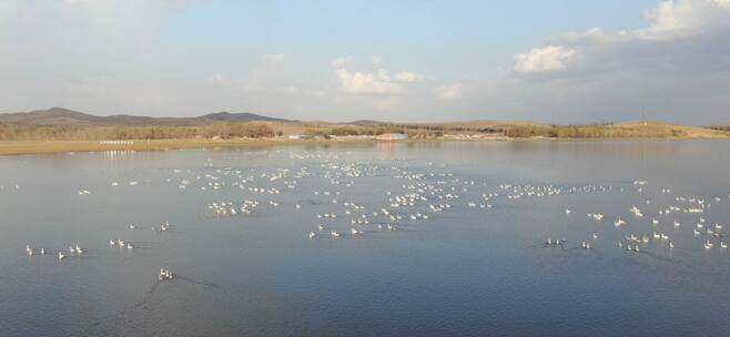
[[[36, 126], [174, 126], [166, 130], [170, 134], [144, 135], [145, 136], [187, 136], [189, 129], [199, 130], [201, 133], [213, 132], [215, 127], [207, 127], [217, 123], [246, 123], [246, 122], [265, 122], [271, 123], [267, 127], [272, 132], [284, 134], [374, 134], [377, 132], [407, 132], [409, 134], [504, 134], [508, 137], [550, 137], [550, 139], [727, 139], [730, 137], [730, 127], [724, 125], [714, 125], [710, 127], [697, 127], [687, 125], [677, 125], [658, 121], [638, 121], [626, 123], [605, 123], [605, 124], [585, 124], [585, 125], [559, 125], [543, 124], [525, 121], [459, 121], [459, 122], [440, 122], [440, 123], [395, 123], [375, 120], [359, 120], [349, 123], [334, 123], [325, 121], [293, 121], [263, 116], [254, 113], [230, 113], [216, 112], [194, 118], [152, 118], [138, 116], [128, 114], [116, 114], [108, 116], [98, 116], [79, 111], [63, 108], [52, 108], [48, 110], [36, 110], [31, 112], [19, 113], [0, 113], [0, 132], [6, 129], [4, 135], [0, 136], [9, 140], [18, 140], [23, 136], [36, 139], [59, 139], [61, 135]], [[275, 125], [274, 125], [275, 124]], [[12, 125], [17, 127], [3, 127]], [[252, 126], [252, 125], [249, 125]], [[253, 125], [256, 126], [256, 125]], [[346, 127], [342, 127], [346, 126]], [[73, 127], [68, 127], [73, 129]], [[121, 127], [120, 127], [121, 129]], [[139, 129], [126, 130], [125, 134], [135, 134]], [[713, 130], [714, 129], [714, 130]], [[20, 131], [18, 131], [20, 130]], [[53, 131], [53, 130], [52, 130]], [[58, 130], [55, 130], [58, 131]], [[98, 130], [99, 131], [99, 130]], [[254, 130], [255, 131], [255, 130]], [[45, 132], [45, 133], [44, 133]], [[68, 139], [83, 139], [88, 135], [74, 134], [73, 130], [65, 130], [62, 133]], [[103, 130], [99, 131], [104, 134]], [[225, 135], [221, 135], [225, 136]]]

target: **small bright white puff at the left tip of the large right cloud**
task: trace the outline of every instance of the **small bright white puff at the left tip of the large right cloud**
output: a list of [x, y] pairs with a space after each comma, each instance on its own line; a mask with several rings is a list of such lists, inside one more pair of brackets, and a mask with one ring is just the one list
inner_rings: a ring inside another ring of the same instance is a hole
[[531, 73], [561, 70], [577, 58], [578, 51], [562, 45], [535, 48], [515, 57], [515, 71]]

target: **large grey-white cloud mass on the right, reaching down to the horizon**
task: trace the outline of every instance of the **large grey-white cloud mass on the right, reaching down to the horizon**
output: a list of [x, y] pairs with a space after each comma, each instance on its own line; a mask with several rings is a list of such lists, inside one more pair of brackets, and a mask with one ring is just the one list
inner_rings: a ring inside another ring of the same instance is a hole
[[660, 1], [645, 18], [638, 29], [569, 32], [516, 55], [514, 72], [479, 88], [483, 105], [548, 121], [723, 122], [730, 0]]

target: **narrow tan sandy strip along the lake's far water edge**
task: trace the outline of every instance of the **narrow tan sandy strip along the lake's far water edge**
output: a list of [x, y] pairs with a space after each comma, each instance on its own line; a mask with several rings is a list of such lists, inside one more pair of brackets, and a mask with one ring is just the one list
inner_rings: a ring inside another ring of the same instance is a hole
[[0, 141], [0, 155], [53, 154], [68, 152], [103, 152], [103, 151], [168, 151], [183, 149], [214, 147], [252, 147], [276, 145], [334, 145], [334, 144], [378, 144], [378, 143], [446, 143], [446, 142], [637, 142], [637, 141], [727, 141], [730, 137], [614, 137], [614, 139], [418, 139], [403, 141], [378, 141], [363, 139], [339, 140], [288, 140], [288, 139], [245, 139], [245, 140], [210, 140], [210, 139], [173, 139], [173, 140], [133, 140], [131, 144], [108, 144], [100, 141]]

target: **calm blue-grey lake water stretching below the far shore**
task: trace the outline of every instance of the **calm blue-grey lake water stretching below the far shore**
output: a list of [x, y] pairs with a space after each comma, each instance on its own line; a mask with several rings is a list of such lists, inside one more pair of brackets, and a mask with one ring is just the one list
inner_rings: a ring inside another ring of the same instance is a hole
[[0, 335], [721, 336], [728, 167], [730, 142], [4, 156]]

